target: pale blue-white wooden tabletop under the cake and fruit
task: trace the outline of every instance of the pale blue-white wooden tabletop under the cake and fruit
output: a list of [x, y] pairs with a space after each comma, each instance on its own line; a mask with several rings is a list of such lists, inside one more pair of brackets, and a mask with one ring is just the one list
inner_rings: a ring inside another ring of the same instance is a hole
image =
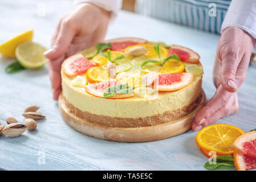
[[[42, 3], [43, 2], [43, 3]], [[46, 16], [42, 15], [43, 7]], [[0, 43], [34, 28], [34, 41], [48, 47], [58, 19], [72, 7], [71, 1], [1, 1]], [[215, 88], [212, 71], [219, 36], [188, 27], [121, 11], [109, 26], [107, 39], [137, 36], [167, 44], [181, 44], [201, 55], [203, 88], [208, 99]], [[204, 170], [207, 158], [195, 142], [196, 132], [148, 143], [117, 143], [95, 139], [71, 129], [62, 119], [58, 103], [52, 100], [47, 68], [7, 74], [14, 60], [0, 57], [0, 122], [13, 115], [23, 122], [23, 109], [41, 106], [46, 119], [38, 128], [20, 137], [0, 137], [2, 170]], [[239, 88], [238, 113], [218, 120], [249, 131], [256, 128], [256, 67], [249, 67]], [[45, 154], [45, 164], [43, 159]], [[41, 158], [40, 158], [41, 157]]]

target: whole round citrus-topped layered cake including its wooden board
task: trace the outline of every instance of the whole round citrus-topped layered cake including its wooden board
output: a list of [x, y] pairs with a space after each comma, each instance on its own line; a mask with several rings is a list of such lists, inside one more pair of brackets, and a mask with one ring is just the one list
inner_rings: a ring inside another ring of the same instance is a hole
[[188, 131], [204, 105], [203, 68], [192, 49], [117, 38], [62, 64], [59, 107], [81, 133], [118, 142], [147, 142]]

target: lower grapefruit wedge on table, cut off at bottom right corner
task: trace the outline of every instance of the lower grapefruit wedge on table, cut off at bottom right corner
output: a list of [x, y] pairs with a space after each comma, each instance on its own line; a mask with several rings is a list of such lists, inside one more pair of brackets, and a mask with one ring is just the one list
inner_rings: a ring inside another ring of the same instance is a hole
[[256, 169], [256, 158], [243, 154], [239, 150], [234, 151], [234, 164], [237, 170]]

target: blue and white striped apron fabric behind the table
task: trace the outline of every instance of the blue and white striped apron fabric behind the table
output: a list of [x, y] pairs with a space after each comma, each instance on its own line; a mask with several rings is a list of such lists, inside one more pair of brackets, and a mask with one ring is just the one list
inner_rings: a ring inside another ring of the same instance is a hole
[[[135, 11], [198, 30], [220, 34], [221, 24], [231, 0], [136, 0]], [[214, 3], [210, 4], [210, 3]], [[216, 16], [209, 15], [213, 5]]]

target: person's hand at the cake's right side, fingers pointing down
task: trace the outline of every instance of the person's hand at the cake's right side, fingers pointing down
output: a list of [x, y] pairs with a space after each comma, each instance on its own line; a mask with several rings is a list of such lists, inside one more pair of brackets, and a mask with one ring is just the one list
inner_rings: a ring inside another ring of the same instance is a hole
[[245, 80], [255, 39], [238, 27], [228, 27], [220, 37], [213, 69], [217, 90], [196, 114], [192, 130], [197, 131], [238, 110], [237, 89]]

